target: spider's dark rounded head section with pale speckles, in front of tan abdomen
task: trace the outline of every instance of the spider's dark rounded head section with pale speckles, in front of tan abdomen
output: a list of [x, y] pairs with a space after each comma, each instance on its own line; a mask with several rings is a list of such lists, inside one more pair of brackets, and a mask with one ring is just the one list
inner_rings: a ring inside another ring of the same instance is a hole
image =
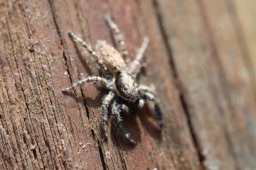
[[113, 84], [117, 94], [127, 101], [137, 101], [139, 96], [141, 96], [139, 85], [127, 73], [117, 74], [114, 77]]

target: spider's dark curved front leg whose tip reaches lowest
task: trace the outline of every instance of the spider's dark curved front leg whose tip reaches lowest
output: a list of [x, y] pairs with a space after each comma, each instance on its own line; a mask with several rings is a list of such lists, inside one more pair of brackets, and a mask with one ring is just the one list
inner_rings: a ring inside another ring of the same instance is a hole
[[127, 130], [125, 130], [125, 128], [124, 128], [120, 112], [121, 111], [119, 109], [119, 105], [117, 105], [116, 102], [113, 102], [112, 103], [112, 116], [113, 116], [114, 123], [117, 127], [117, 130], [119, 131], [120, 135], [122, 135], [122, 137], [124, 137], [124, 139], [128, 140], [129, 142], [131, 142], [132, 144], [135, 145], [136, 141], [132, 139], [129, 132], [127, 132]]

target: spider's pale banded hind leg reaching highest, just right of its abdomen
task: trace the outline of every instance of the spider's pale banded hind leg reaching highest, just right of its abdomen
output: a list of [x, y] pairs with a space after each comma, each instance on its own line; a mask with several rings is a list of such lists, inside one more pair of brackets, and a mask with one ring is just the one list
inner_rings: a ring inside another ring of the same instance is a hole
[[127, 47], [126, 44], [124, 42], [124, 38], [121, 34], [121, 31], [119, 30], [118, 26], [116, 23], [114, 23], [114, 21], [112, 20], [112, 18], [110, 16], [106, 16], [106, 21], [108, 26], [110, 26], [110, 28], [114, 31], [114, 33], [117, 35], [117, 40], [119, 43], [119, 47], [122, 50], [122, 57], [124, 58], [124, 61], [126, 63], [129, 63], [129, 52], [127, 51]]

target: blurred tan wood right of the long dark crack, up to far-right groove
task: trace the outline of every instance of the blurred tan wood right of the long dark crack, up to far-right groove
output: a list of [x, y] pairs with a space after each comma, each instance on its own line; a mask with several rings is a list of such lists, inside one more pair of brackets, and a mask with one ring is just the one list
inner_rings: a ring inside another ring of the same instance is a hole
[[228, 5], [159, 1], [191, 125], [206, 157], [203, 164], [253, 169], [255, 98]]

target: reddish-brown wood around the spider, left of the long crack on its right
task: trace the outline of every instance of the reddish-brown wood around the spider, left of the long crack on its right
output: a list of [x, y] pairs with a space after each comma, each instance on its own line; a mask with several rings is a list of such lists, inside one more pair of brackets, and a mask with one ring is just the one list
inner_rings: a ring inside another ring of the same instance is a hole
[[[1, 130], [2, 139], [11, 143], [9, 154], [1, 152], [3, 165], [17, 169], [188, 169], [198, 165], [150, 2], [145, 8], [137, 1], [125, 6], [114, 1], [16, 1], [3, 2], [2, 8]], [[92, 85], [69, 95], [60, 91], [81, 77], [98, 74], [90, 57], [68, 38], [67, 30], [92, 44], [99, 39], [112, 42], [104, 19], [107, 13], [124, 31], [132, 56], [143, 36], [151, 36], [148, 66], [141, 78], [144, 84], [149, 80], [160, 85], [156, 90], [166, 113], [162, 142], [145, 108], [140, 117], [126, 120], [127, 129], [139, 140], [136, 147], [124, 145], [114, 135], [104, 143], [98, 118], [105, 91]], [[146, 13], [154, 20], [147, 21]], [[158, 60], [158, 56], [163, 57]]]

